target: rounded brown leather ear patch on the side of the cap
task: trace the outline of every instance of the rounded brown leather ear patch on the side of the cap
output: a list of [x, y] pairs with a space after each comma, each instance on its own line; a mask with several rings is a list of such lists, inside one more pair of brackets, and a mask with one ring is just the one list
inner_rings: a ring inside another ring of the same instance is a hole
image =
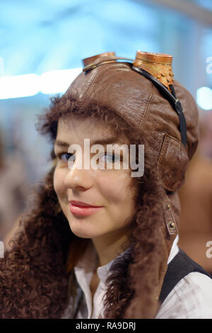
[[165, 134], [157, 164], [157, 177], [167, 191], [177, 191], [184, 184], [189, 157], [184, 145]]

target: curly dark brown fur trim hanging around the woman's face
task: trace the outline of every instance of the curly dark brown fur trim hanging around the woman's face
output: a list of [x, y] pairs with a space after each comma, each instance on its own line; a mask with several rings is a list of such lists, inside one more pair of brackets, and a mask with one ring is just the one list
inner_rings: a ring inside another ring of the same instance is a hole
[[[165, 190], [156, 181], [155, 154], [148, 145], [151, 132], [136, 130], [105, 106], [55, 96], [36, 128], [54, 144], [60, 118], [102, 121], [129, 138], [130, 144], [145, 147], [145, 171], [133, 177], [138, 191], [135, 197], [135, 227], [131, 235], [132, 251], [120, 256], [111, 266], [104, 297], [104, 318], [151, 318], [158, 310], [155, 286], [164, 266], [163, 196]], [[151, 141], [150, 141], [151, 142]], [[1, 318], [61, 318], [68, 306], [68, 281], [73, 267], [86, 249], [89, 239], [71, 232], [54, 191], [54, 150], [52, 169], [32, 188], [28, 208], [20, 219], [20, 228], [11, 239], [11, 250], [0, 259]], [[76, 281], [75, 281], [76, 283]], [[73, 289], [75, 287], [73, 286]]]

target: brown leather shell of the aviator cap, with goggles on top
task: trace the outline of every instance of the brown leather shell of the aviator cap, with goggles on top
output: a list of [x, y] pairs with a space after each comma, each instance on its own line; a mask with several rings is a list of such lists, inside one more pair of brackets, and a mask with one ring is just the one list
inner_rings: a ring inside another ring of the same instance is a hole
[[[198, 111], [194, 98], [173, 79], [170, 55], [137, 52], [136, 59], [129, 62], [108, 52], [87, 58], [83, 63], [86, 67], [66, 91], [67, 96], [82, 104], [88, 99], [100, 103], [136, 130], [142, 132], [148, 128], [151, 132], [149, 145], [156, 152], [153, 167], [165, 189], [164, 258], [167, 262], [178, 232], [180, 208], [176, 191], [184, 183], [187, 164], [198, 145]], [[160, 293], [164, 275], [165, 271], [155, 295]]]

